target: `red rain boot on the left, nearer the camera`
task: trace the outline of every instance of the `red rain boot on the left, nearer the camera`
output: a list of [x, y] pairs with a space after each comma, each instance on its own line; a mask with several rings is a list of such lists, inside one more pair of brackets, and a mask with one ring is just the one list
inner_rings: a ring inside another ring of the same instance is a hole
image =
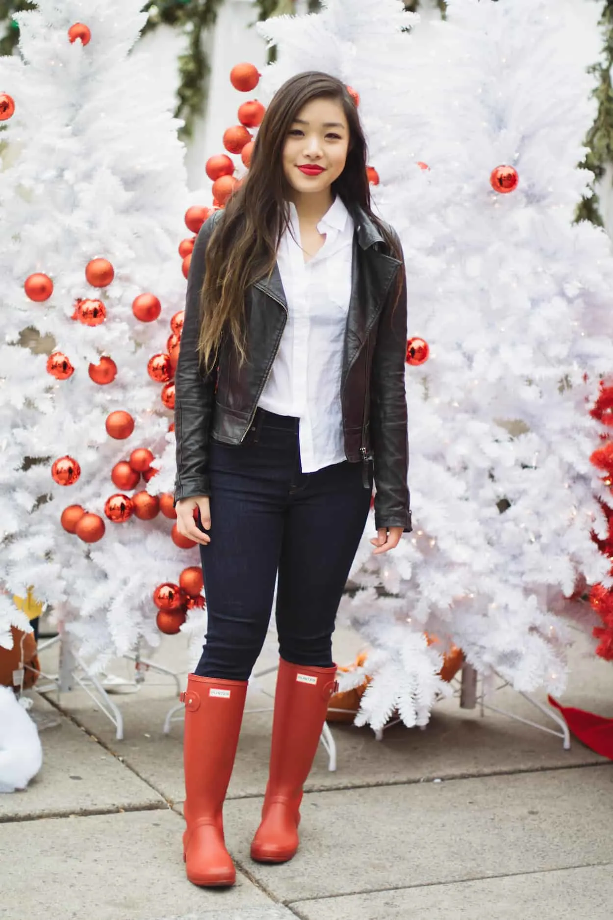
[[195, 885], [233, 885], [236, 871], [223, 839], [223, 800], [243, 720], [246, 681], [187, 675], [183, 763], [187, 829], [183, 858]]

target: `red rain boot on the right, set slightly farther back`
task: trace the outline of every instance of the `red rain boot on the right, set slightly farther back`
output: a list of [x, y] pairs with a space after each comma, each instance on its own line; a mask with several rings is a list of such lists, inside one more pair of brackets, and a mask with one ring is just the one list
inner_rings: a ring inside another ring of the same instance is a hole
[[337, 690], [335, 675], [336, 666], [303, 667], [279, 659], [270, 772], [262, 822], [251, 845], [257, 862], [287, 862], [298, 849], [302, 786]]

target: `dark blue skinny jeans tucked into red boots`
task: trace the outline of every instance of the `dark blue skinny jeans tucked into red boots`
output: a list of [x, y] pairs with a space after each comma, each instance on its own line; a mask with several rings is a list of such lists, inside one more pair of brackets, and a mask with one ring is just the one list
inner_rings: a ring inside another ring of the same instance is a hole
[[195, 673], [244, 681], [277, 588], [279, 655], [332, 667], [332, 634], [372, 494], [361, 463], [302, 473], [299, 419], [257, 408], [243, 443], [210, 442], [206, 642]]

